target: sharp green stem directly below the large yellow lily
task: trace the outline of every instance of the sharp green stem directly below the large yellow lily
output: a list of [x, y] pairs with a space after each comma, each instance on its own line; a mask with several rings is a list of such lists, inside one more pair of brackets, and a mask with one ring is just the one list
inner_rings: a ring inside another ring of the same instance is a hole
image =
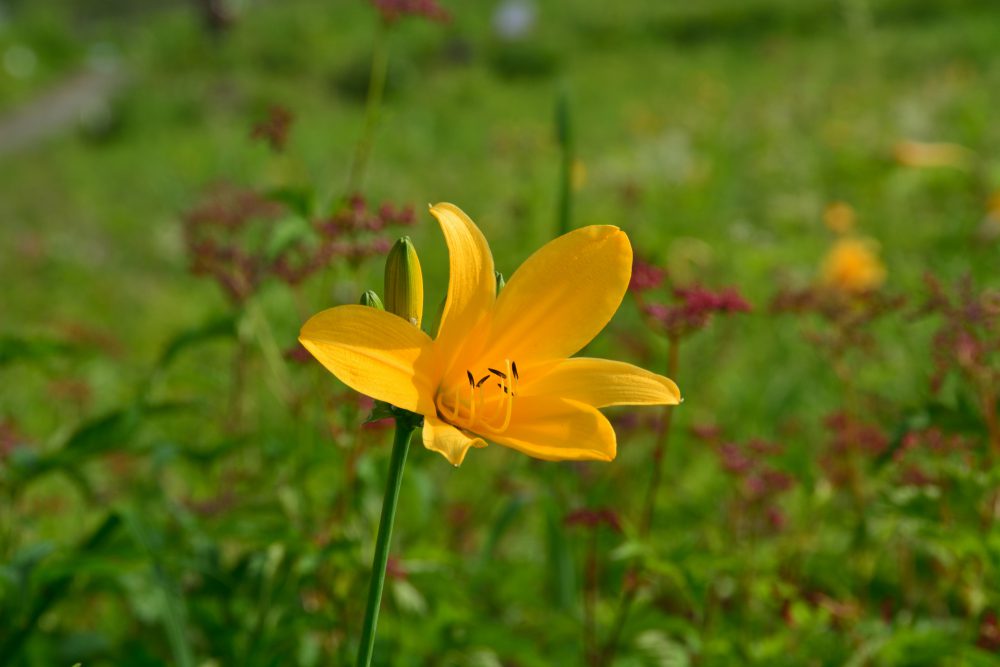
[[410, 438], [414, 424], [406, 418], [396, 418], [396, 435], [392, 441], [392, 458], [389, 460], [389, 479], [385, 485], [385, 499], [382, 501], [382, 518], [375, 538], [375, 558], [372, 561], [371, 585], [368, 587], [368, 605], [365, 622], [361, 628], [361, 648], [358, 650], [358, 667], [368, 667], [375, 648], [375, 625], [378, 623], [378, 609], [382, 601], [385, 585], [385, 566], [389, 560], [389, 542], [392, 524], [396, 519], [396, 505], [399, 502], [399, 486], [403, 481], [403, 464], [410, 450]]

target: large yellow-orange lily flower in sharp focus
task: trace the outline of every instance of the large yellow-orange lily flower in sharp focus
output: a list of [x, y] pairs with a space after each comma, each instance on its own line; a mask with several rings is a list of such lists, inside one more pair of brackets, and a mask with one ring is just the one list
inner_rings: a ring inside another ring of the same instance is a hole
[[632, 247], [617, 227], [577, 229], [546, 244], [496, 293], [493, 256], [452, 204], [431, 207], [449, 253], [448, 296], [431, 339], [364, 306], [313, 316], [299, 340], [349, 387], [424, 417], [424, 446], [459, 465], [486, 440], [546, 460], [615, 457], [597, 408], [676, 405], [677, 385], [631, 364], [570, 358], [614, 315]]

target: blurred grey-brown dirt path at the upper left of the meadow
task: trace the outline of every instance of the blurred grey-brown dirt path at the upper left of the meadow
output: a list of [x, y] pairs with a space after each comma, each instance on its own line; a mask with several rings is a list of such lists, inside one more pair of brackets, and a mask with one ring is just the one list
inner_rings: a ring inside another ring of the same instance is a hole
[[0, 116], [0, 160], [97, 113], [125, 83], [119, 69], [89, 69]]

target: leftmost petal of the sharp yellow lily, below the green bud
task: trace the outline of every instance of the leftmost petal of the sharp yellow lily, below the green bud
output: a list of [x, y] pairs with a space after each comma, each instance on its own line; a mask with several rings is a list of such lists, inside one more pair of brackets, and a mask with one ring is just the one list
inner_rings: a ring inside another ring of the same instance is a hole
[[432, 341], [406, 320], [366, 306], [338, 306], [309, 318], [299, 341], [348, 387], [434, 414]]

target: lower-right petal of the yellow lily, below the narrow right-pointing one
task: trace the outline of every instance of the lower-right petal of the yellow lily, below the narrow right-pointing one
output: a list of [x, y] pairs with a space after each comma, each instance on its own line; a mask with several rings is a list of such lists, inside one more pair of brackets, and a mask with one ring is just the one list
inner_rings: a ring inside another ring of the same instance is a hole
[[546, 461], [610, 461], [615, 458], [615, 432], [595, 408], [545, 396], [519, 396], [510, 426], [486, 432], [492, 442]]

